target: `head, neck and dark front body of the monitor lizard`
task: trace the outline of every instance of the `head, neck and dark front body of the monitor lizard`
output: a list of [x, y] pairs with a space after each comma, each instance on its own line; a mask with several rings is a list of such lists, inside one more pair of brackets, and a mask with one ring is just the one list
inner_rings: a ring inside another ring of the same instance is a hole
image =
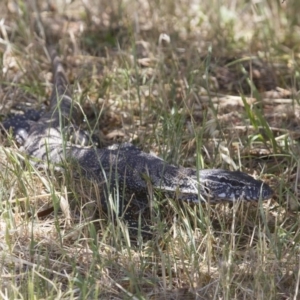
[[[119, 186], [132, 193], [147, 191], [149, 184], [169, 196], [190, 202], [269, 199], [273, 191], [267, 184], [236, 171], [195, 170], [167, 164], [161, 158], [124, 143], [105, 149], [67, 147], [87, 176], [104, 181], [104, 174], [117, 178]], [[98, 162], [98, 163], [95, 163]]]

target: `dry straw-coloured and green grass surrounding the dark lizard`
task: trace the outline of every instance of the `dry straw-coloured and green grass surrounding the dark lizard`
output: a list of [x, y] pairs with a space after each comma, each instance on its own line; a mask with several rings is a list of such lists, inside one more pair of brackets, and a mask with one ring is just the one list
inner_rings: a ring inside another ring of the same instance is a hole
[[1, 298], [299, 298], [300, 7], [283, 2], [0, 4], [2, 119], [49, 98], [39, 9], [103, 146], [240, 169], [275, 190], [265, 203], [215, 206], [151, 195], [155, 235], [133, 240], [113, 213], [95, 218], [93, 183], [35, 169], [1, 135]]

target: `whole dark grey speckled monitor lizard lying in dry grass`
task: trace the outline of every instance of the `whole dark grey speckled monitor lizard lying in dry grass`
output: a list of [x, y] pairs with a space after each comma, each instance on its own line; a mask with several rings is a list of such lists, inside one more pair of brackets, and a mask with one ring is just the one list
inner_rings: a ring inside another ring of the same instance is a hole
[[273, 195], [267, 184], [239, 171], [174, 166], [130, 143], [97, 149], [70, 142], [65, 138], [65, 128], [75, 124], [78, 108], [68, 89], [60, 58], [54, 50], [49, 52], [54, 77], [50, 110], [30, 125], [23, 145], [29, 156], [54, 165], [71, 159], [87, 178], [109, 190], [124, 188], [128, 197], [135, 194], [147, 199], [149, 187], [195, 203], [258, 201]]

